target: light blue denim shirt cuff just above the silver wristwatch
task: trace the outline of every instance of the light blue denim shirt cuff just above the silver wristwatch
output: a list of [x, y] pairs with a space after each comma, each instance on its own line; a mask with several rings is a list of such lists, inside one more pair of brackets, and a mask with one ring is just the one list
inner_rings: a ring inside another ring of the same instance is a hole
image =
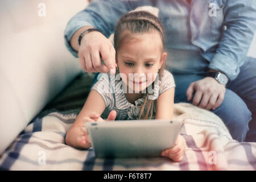
[[236, 79], [240, 73], [240, 67], [238, 67], [238, 64], [221, 53], [216, 53], [212, 57], [209, 68], [225, 73], [226, 76], [229, 77], [230, 81]]

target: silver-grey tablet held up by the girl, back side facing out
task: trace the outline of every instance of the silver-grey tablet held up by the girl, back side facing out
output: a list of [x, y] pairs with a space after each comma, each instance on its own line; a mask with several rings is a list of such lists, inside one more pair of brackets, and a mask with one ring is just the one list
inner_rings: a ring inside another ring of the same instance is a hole
[[182, 124], [144, 119], [85, 122], [85, 127], [97, 158], [147, 158], [173, 147]]

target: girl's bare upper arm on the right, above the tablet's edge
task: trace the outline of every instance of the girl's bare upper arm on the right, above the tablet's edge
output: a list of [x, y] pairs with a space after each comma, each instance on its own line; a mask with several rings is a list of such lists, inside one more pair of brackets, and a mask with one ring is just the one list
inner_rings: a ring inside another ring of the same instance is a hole
[[155, 119], [172, 119], [174, 116], [175, 88], [164, 91], [156, 101]]

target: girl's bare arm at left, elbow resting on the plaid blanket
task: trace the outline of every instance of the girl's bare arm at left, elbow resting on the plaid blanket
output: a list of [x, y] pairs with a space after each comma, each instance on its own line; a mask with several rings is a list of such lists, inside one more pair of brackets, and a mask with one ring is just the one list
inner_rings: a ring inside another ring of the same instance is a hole
[[89, 96], [86, 99], [82, 110], [77, 116], [75, 122], [73, 123], [71, 129], [69, 129], [65, 142], [69, 146], [77, 148], [89, 148], [90, 143], [81, 143], [81, 138], [85, 137], [86, 129], [84, 127], [84, 121], [88, 119], [92, 113], [101, 115], [105, 110], [105, 102], [101, 95], [96, 90], [91, 90]]

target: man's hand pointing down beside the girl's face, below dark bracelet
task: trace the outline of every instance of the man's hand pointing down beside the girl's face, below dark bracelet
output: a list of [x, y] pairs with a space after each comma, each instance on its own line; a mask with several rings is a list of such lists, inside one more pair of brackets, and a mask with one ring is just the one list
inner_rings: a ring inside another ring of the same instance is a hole
[[[101, 63], [101, 57], [106, 65]], [[115, 73], [115, 67], [117, 67], [112, 42], [97, 31], [89, 32], [82, 38], [79, 60], [82, 69], [88, 73], [106, 73], [110, 72], [110, 69], [113, 69]]]

